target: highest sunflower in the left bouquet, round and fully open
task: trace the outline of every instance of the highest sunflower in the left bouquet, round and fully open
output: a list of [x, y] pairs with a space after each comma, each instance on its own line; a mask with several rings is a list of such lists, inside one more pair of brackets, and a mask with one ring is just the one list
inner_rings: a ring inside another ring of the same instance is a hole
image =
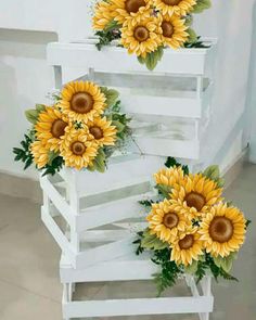
[[95, 84], [76, 81], [63, 88], [59, 106], [72, 120], [87, 123], [104, 112], [105, 100], [105, 95]]

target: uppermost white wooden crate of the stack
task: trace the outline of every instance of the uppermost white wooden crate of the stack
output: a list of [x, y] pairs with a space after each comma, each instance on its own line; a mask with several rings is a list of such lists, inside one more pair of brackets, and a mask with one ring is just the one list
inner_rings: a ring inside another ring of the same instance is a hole
[[[112, 46], [99, 52], [94, 43], [95, 39], [88, 39], [48, 46], [48, 62], [54, 67], [56, 87], [63, 85], [63, 67], [79, 67], [85, 73], [79, 79], [93, 80], [120, 92], [124, 112], [132, 116], [136, 129], [143, 123], [154, 127], [146, 133], [136, 130], [141, 152], [199, 159], [201, 127], [208, 121], [214, 87], [216, 39], [205, 39], [209, 46], [205, 49], [166, 49], [154, 72], [146, 71], [123, 48]], [[178, 118], [184, 120], [176, 121]], [[193, 127], [189, 135], [183, 131], [185, 120]]]

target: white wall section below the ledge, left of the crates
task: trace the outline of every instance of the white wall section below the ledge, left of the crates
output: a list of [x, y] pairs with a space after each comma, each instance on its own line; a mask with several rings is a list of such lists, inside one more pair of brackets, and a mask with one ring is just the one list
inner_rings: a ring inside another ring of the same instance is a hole
[[56, 40], [53, 33], [0, 29], [0, 171], [24, 175], [22, 165], [13, 161], [12, 148], [28, 128], [24, 111], [49, 102], [46, 93], [53, 87], [53, 74], [46, 46]]

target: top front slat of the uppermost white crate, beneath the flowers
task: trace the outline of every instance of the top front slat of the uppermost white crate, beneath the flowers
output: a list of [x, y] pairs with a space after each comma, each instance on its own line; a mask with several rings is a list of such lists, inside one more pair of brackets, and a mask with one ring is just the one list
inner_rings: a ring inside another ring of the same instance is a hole
[[[166, 49], [165, 54], [155, 68], [155, 73], [203, 75], [206, 69], [206, 56], [214, 54], [215, 43], [208, 49]], [[117, 47], [98, 51], [93, 41], [76, 43], [50, 43], [47, 50], [50, 65], [68, 67], [93, 67], [103, 72], [146, 72], [145, 66], [138, 63], [135, 55]], [[210, 60], [210, 56], [207, 57]], [[117, 61], [121, 61], [117, 64]]]

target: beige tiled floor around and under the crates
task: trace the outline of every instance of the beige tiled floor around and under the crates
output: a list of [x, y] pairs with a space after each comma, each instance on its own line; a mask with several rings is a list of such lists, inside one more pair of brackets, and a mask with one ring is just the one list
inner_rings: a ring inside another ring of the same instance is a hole
[[[256, 319], [256, 166], [246, 165], [227, 190], [227, 196], [253, 220], [233, 273], [240, 283], [214, 285], [216, 297], [212, 320]], [[40, 221], [39, 206], [0, 195], [0, 319], [59, 320], [61, 285], [60, 249]], [[137, 292], [141, 285], [131, 286]], [[110, 293], [106, 285], [87, 286], [88, 297]], [[112, 289], [115, 289], [113, 286]], [[149, 287], [145, 290], [149, 290]], [[181, 290], [179, 286], [177, 291]], [[113, 318], [114, 319], [114, 318]], [[119, 318], [120, 319], [120, 318]], [[138, 319], [137, 317], [121, 319]], [[141, 320], [195, 320], [196, 316], [141, 317]], [[105, 319], [104, 319], [105, 320]]]

